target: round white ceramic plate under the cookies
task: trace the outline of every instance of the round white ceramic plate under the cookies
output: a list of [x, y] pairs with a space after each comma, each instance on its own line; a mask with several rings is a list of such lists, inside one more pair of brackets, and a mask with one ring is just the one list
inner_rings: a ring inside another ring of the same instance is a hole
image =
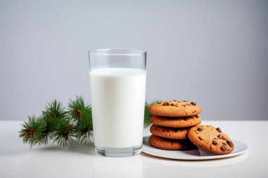
[[237, 140], [232, 140], [235, 147], [234, 150], [227, 155], [214, 155], [200, 149], [189, 151], [168, 151], [157, 149], [148, 143], [149, 136], [143, 137], [142, 152], [148, 155], [161, 158], [178, 159], [178, 160], [211, 160], [220, 158], [229, 158], [242, 154], [248, 150], [248, 146]]

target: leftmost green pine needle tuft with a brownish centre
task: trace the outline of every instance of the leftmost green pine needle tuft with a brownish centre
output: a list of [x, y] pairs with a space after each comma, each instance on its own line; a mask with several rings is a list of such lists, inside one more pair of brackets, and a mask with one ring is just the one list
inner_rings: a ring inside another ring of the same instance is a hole
[[24, 122], [21, 126], [19, 137], [22, 138], [23, 143], [30, 144], [32, 148], [33, 145], [41, 142], [44, 127], [39, 117], [28, 116], [28, 122]]

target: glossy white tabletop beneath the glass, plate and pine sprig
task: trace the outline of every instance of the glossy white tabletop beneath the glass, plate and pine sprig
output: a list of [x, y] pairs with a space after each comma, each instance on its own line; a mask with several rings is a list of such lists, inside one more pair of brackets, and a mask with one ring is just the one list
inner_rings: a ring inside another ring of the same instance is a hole
[[[268, 121], [203, 121], [248, 145], [238, 156], [215, 160], [171, 160], [144, 153], [109, 158], [93, 144], [30, 149], [18, 137], [21, 121], [0, 121], [0, 177], [268, 177]], [[144, 129], [144, 136], [150, 134]]]

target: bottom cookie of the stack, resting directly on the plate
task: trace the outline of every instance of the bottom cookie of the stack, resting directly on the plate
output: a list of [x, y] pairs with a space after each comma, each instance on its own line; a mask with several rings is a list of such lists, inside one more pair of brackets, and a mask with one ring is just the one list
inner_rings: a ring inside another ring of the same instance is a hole
[[188, 139], [169, 139], [156, 135], [151, 135], [148, 140], [149, 144], [162, 150], [191, 150], [197, 149], [197, 146], [192, 144]]

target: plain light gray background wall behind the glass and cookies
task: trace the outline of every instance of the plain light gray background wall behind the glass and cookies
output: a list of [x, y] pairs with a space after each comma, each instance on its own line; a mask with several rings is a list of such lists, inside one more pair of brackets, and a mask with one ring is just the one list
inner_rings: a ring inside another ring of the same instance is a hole
[[148, 50], [147, 101], [267, 120], [268, 1], [0, 0], [0, 120], [89, 97], [88, 50]]

